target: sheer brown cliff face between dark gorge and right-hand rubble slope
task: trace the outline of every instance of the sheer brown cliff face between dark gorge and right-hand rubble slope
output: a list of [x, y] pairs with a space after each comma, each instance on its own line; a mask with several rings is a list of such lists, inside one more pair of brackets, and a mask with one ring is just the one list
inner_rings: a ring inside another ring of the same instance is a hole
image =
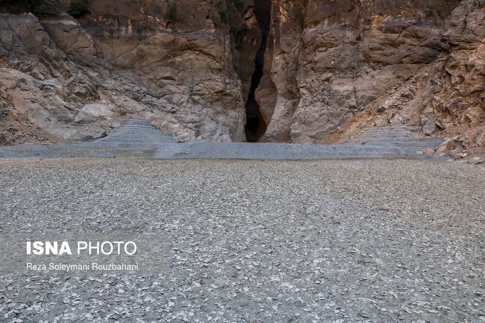
[[274, 1], [257, 98], [269, 141], [318, 142], [433, 62], [459, 1]]

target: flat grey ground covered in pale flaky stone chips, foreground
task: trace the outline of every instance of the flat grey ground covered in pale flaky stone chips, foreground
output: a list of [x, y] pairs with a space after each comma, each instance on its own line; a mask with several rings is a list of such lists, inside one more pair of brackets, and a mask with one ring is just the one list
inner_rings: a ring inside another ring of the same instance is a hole
[[485, 322], [485, 168], [415, 160], [0, 164], [0, 233], [123, 230], [166, 275], [0, 276], [4, 322]]

